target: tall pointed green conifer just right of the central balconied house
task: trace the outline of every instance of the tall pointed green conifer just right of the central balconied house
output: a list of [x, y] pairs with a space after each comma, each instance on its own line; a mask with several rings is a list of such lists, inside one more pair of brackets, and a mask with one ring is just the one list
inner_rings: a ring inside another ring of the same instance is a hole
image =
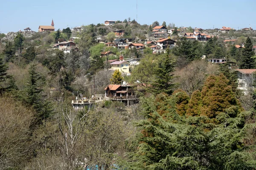
[[155, 81], [150, 87], [150, 91], [154, 94], [166, 93], [171, 95], [175, 85], [173, 84], [172, 72], [174, 71], [174, 62], [170, 57], [170, 50], [158, 61], [158, 67], [155, 71]]

